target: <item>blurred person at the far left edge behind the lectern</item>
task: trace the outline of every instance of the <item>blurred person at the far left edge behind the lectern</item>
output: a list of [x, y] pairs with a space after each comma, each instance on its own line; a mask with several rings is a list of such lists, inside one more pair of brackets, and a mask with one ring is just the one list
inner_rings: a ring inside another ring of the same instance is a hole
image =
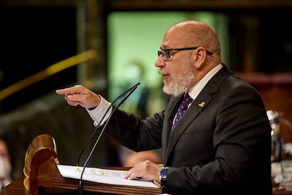
[[11, 183], [11, 160], [8, 148], [3, 140], [0, 140], [0, 191]]

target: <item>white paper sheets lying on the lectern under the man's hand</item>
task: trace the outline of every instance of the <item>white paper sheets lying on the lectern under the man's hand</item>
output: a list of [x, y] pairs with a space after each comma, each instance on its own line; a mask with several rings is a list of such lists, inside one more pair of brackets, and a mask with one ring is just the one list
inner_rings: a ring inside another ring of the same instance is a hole
[[[80, 179], [83, 167], [71, 165], [57, 165], [59, 172], [63, 177]], [[86, 167], [83, 173], [83, 180], [89, 182], [99, 182], [103, 184], [116, 184], [133, 187], [153, 187], [159, 188], [153, 182], [124, 179], [127, 171], [124, 170], [107, 170], [93, 167]]]

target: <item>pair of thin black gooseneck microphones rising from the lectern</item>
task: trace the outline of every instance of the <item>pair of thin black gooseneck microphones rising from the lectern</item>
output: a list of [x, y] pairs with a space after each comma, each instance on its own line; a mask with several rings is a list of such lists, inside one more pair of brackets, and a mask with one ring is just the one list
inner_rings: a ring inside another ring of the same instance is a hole
[[[93, 131], [92, 135], [90, 136], [89, 140], [87, 141], [87, 143], [85, 144], [85, 147], [83, 148], [83, 150], [81, 150], [81, 153], [78, 157], [78, 162], [77, 165], [79, 165], [79, 160], [80, 160], [80, 156], [82, 155], [83, 151], [85, 150], [85, 148], [87, 147], [88, 143], [90, 142], [90, 140], [92, 139], [93, 135], [95, 134], [95, 132], [97, 131], [97, 127], [99, 126], [99, 124], [103, 121], [104, 117], [107, 116], [109, 110], [112, 109], [111, 113], [109, 114], [109, 117], [107, 118], [107, 121], [105, 122], [102, 131], [100, 131], [100, 134], [97, 138], [97, 141], [95, 141], [95, 145], [92, 147], [92, 149], [90, 150], [90, 154], [88, 155], [87, 159], [85, 160], [85, 163], [83, 165], [83, 170], [81, 172], [80, 175], [80, 180], [79, 180], [79, 185], [78, 185], [78, 194], [82, 195], [83, 194], [83, 173], [85, 171], [85, 167], [87, 167], [87, 164], [90, 160], [90, 158], [92, 157], [92, 153], [94, 152], [97, 143], [99, 143], [99, 139], [101, 138], [102, 134], [104, 133], [104, 130], [107, 128], [107, 124], [109, 123], [109, 119], [111, 119], [112, 114], [114, 114], [114, 111], [116, 109], [118, 109], [118, 107], [120, 107], [123, 102], [125, 102], [128, 97], [134, 92], [134, 90], [136, 88], [138, 88], [138, 85], [140, 85], [140, 83], [137, 83], [135, 85], [133, 85], [132, 87], [130, 87], [128, 90], [126, 90], [125, 92], [121, 93], [121, 95], [118, 95], [118, 97], [111, 103], [111, 105], [109, 106], [109, 108], [107, 109], [107, 111], [104, 113], [104, 115], [102, 116], [102, 119], [99, 121], [99, 123], [97, 124], [97, 126], [95, 127], [95, 131]], [[122, 99], [121, 99], [122, 98]], [[119, 99], [121, 99], [121, 102], [118, 103], [118, 105], [116, 105], [116, 107], [114, 107], [114, 103], [116, 103], [116, 101], [118, 101]]]

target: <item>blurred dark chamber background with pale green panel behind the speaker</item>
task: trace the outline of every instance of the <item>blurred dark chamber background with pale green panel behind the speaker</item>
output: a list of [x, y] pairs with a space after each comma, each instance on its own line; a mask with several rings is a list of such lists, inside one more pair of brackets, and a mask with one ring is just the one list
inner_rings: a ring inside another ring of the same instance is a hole
[[[169, 97], [154, 61], [164, 32], [181, 20], [212, 25], [224, 63], [259, 90], [267, 110], [292, 121], [291, 11], [288, 0], [0, 1], [0, 138], [11, 154], [13, 178], [23, 176], [35, 136], [53, 136], [61, 164], [75, 165], [94, 130], [87, 112], [67, 105], [58, 88], [83, 84], [114, 100], [140, 82], [123, 110], [146, 116], [164, 109]], [[73, 66], [59, 63], [92, 50], [95, 55]], [[35, 81], [53, 65], [61, 68]], [[10, 88], [16, 83], [20, 88]], [[289, 126], [282, 129], [291, 143]], [[90, 165], [121, 165], [117, 148], [102, 136]]]

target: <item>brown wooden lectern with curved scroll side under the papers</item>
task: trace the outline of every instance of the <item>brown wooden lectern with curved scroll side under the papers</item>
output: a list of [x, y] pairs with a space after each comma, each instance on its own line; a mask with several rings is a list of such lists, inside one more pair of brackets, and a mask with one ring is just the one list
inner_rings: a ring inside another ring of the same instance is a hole
[[[57, 167], [59, 160], [53, 137], [35, 137], [25, 154], [23, 186], [26, 194], [78, 194], [78, 179], [63, 177]], [[105, 168], [107, 169], [107, 167]], [[126, 170], [126, 167], [117, 169]], [[83, 194], [161, 194], [161, 188], [131, 187], [83, 181]]]

